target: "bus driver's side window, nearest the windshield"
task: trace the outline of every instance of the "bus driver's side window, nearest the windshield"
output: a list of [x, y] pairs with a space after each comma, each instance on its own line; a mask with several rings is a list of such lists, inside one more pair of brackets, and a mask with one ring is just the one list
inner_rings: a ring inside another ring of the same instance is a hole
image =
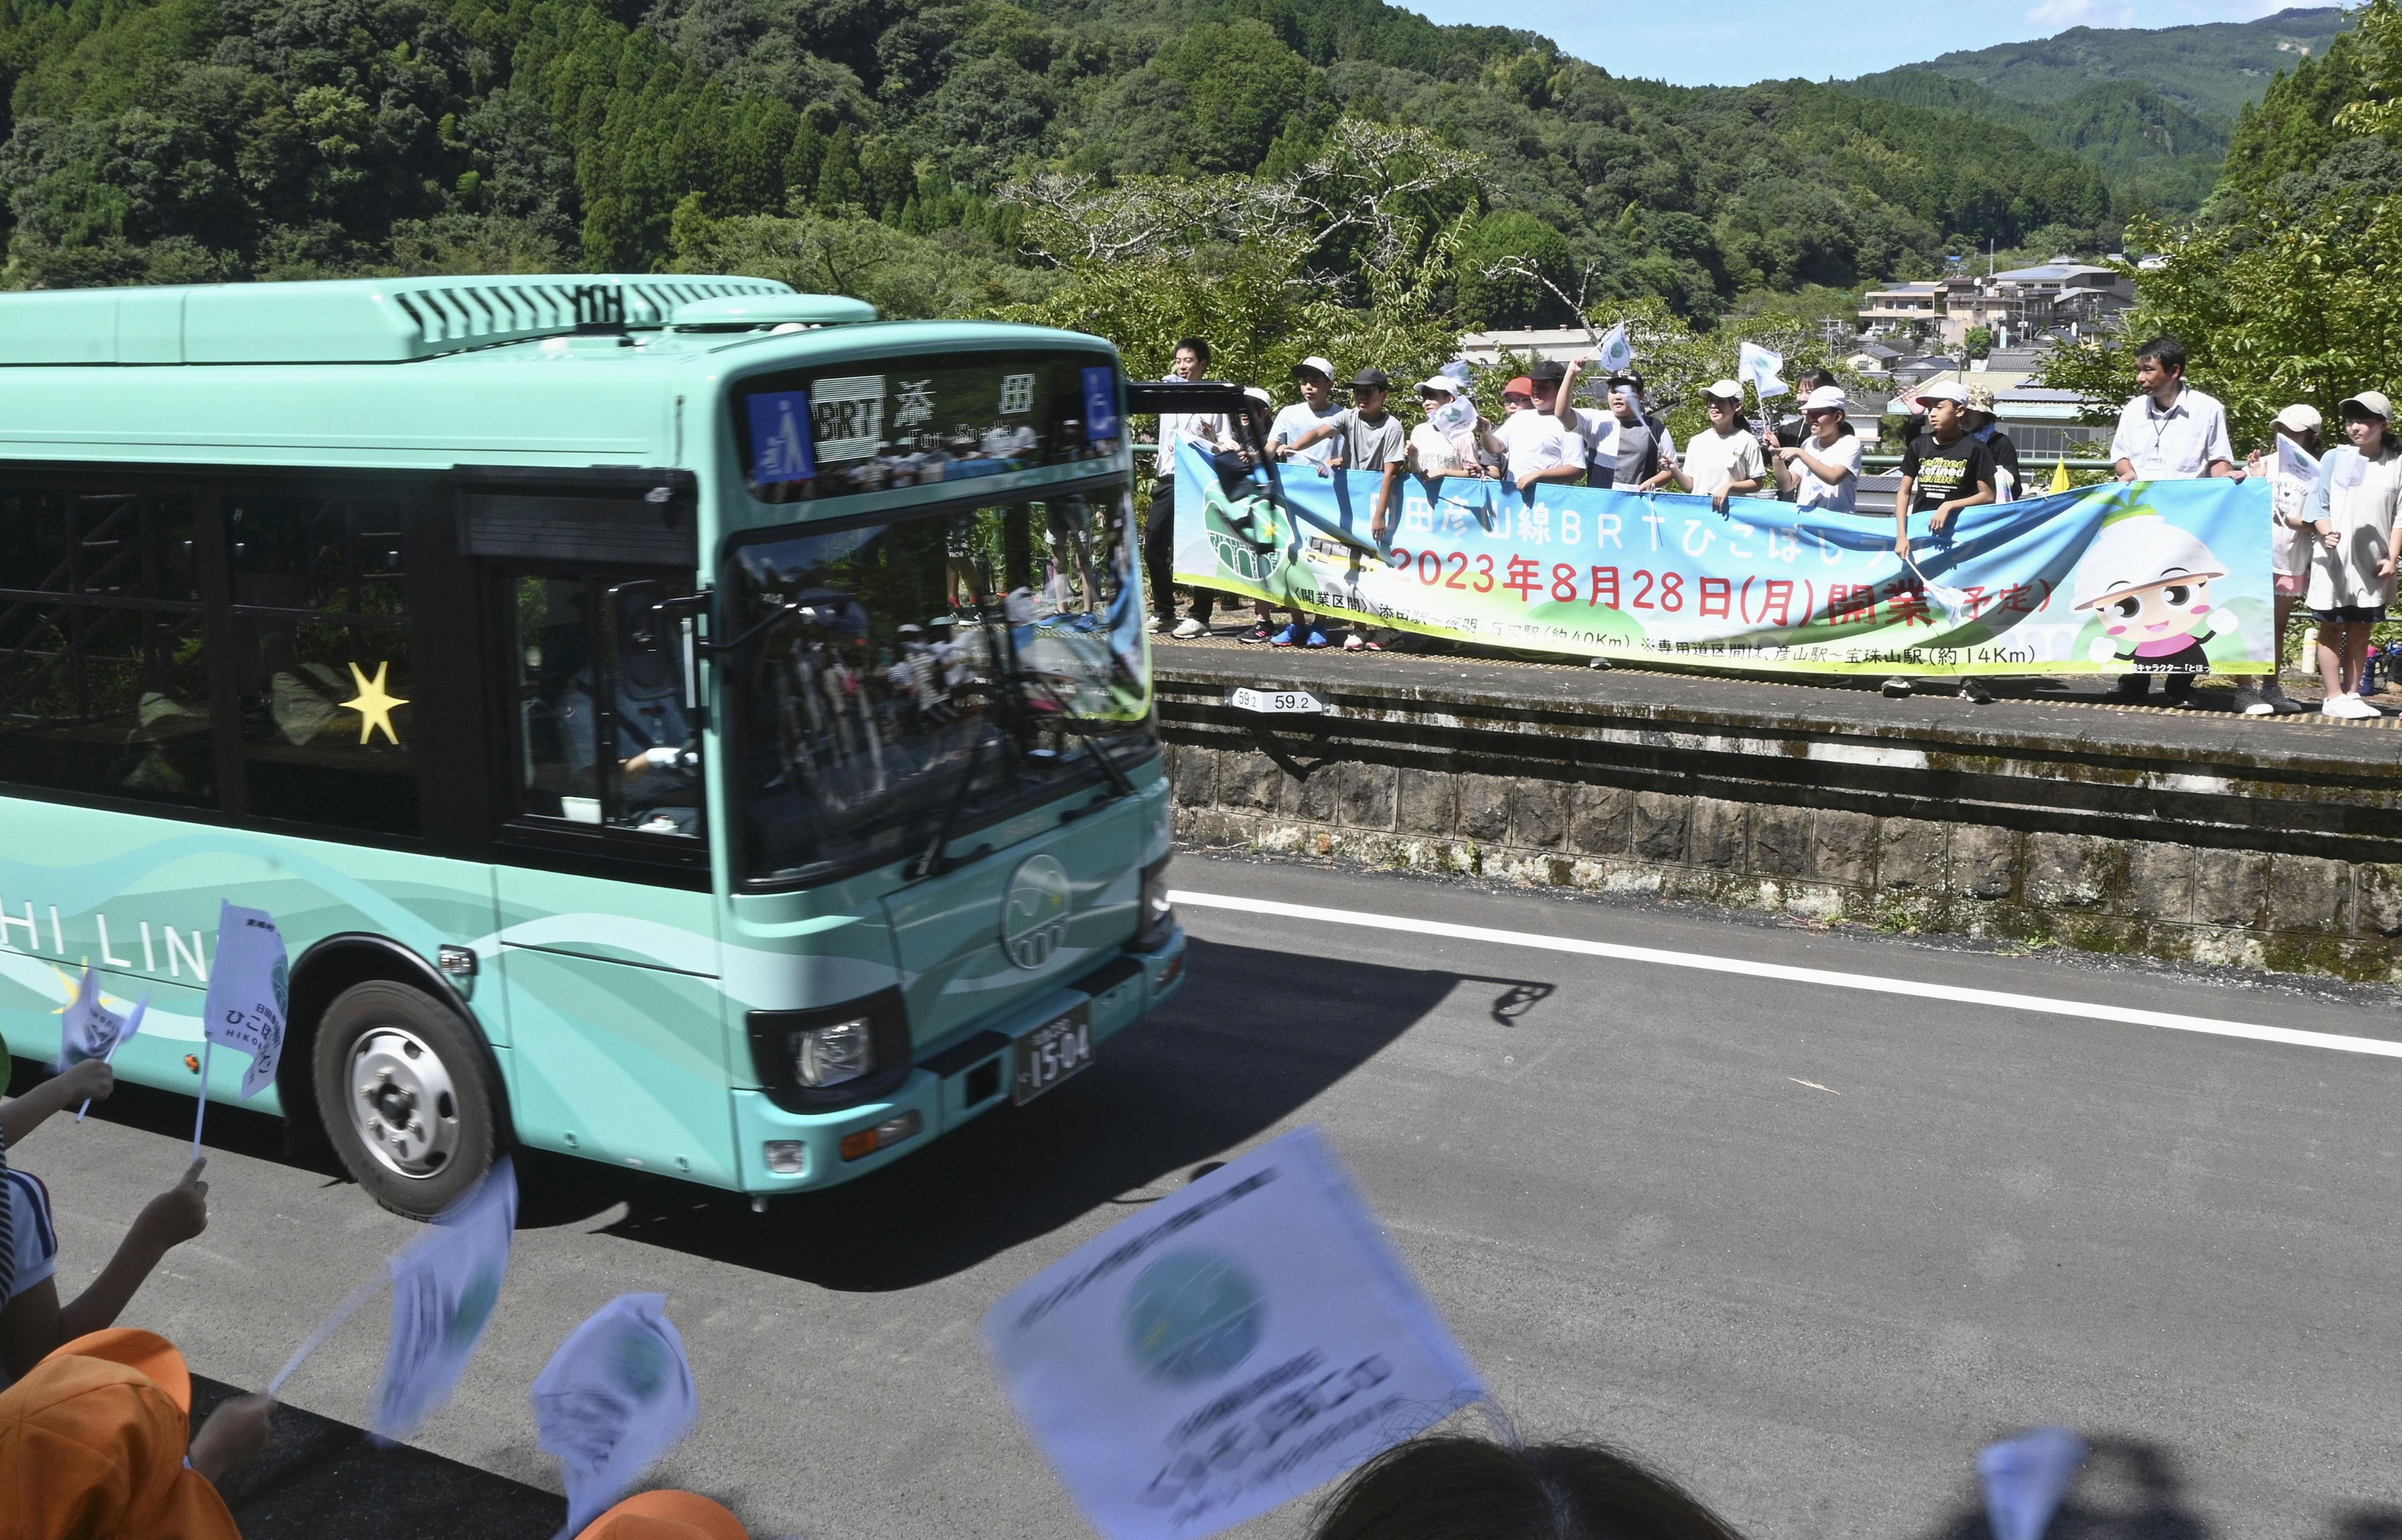
[[704, 831], [701, 738], [685, 718], [682, 639], [637, 646], [646, 608], [689, 584], [610, 596], [598, 577], [516, 577], [519, 812], [632, 834]]

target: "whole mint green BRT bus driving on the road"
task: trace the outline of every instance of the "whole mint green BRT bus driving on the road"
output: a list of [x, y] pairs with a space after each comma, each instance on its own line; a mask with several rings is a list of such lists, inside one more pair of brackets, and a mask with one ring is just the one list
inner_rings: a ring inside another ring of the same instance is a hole
[[1050, 1091], [1184, 968], [1124, 399], [759, 279], [0, 296], [12, 1052], [89, 963], [197, 1093], [231, 899], [293, 961], [252, 1105], [401, 1213]]

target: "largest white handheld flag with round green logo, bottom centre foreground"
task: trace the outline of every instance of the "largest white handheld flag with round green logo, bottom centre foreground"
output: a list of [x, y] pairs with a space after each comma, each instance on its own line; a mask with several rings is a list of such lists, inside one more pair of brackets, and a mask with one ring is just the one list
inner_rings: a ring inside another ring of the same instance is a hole
[[1213, 1535], [1484, 1396], [1316, 1129], [1045, 1269], [985, 1345], [1112, 1540]]

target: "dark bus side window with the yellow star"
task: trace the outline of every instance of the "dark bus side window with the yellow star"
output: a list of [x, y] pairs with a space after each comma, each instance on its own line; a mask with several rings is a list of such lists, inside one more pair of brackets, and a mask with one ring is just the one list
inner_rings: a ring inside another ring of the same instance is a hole
[[223, 517], [250, 810], [416, 834], [401, 507], [235, 493]]

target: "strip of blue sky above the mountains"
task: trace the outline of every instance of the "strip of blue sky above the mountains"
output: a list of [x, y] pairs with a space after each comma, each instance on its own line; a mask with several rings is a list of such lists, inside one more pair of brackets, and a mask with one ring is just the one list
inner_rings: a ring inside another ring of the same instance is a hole
[[1612, 74], [1679, 86], [1756, 79], [1850, 79], [1914, 65], [1955, 48], [2049, 38], [2071, 26], [2188, 26], [2251, 22], [2325, 0], [1946, 0], [1943, 5], [1561, 5], [1496, 7], [1489, 0], [1396, 0], [1436, 22], [1523, 26]]

